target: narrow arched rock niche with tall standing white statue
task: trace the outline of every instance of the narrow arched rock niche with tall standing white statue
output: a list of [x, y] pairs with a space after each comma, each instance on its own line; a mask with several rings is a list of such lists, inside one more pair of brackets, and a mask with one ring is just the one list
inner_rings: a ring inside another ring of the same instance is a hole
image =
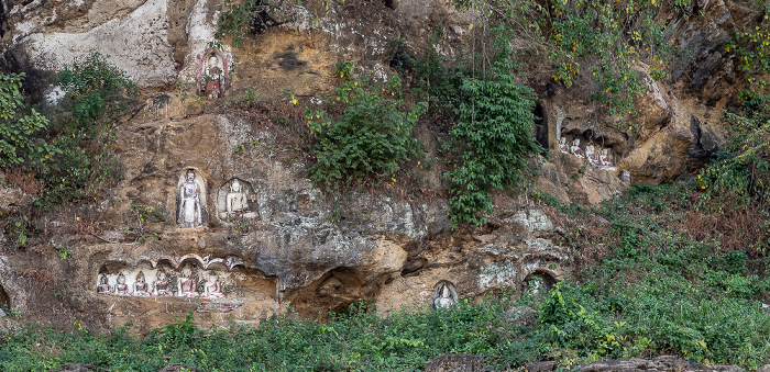
[[176, 192], [176, 217], [179, 227], [193, 228], [208, 222], [206, 211], [206, 182], [191, 168], [179, 176]]

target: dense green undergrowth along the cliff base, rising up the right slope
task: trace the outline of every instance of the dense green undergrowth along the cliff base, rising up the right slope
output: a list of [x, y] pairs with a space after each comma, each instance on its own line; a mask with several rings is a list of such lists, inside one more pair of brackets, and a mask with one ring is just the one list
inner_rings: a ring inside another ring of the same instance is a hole
[[[770, 234], [691, 224], [690, 215], [707, 206], [701, 190], [695, 177], [635, 187], [594, 210], [536, 195], [582, 263], [576, 278], [549, 293], [439, 311], [415, 306], [387, 318], [354, 303], [328, 322], [289, 313], [228, 330], [200, 330], [188, 318], [143, 338], [124, 328], [61, 334], [30, 327], [1, 339], [0, 370], [78, 362], [155, 371], [180, 362], [206, 371], [409, 371], [447, 352], [484, 356], [495, 370], [657, 354], [756, 369], [770, 363], [770, 314], [761, 306], [770, 302], [762, 243]], [[757, 205], [743, 210], [746, 226], [768, 219]], [[724, 208], [698, 214], [735, 217]], [[506, 320], [509, 306], [535, 308], [534, 320]]]

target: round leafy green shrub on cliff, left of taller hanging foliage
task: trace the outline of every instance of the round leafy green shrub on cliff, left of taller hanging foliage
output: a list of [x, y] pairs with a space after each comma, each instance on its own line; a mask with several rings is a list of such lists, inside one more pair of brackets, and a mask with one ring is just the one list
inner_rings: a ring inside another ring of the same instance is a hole
[[308, 172], [329, 190], [341, 182], [392, 176], [420, 148], [411, 133], [426, 104], [404, 102], [398, 76], [383, 84], [367, 84], [366, 79], [344, 81], [330, 98], [329, 112], [306, 111], [317, 134], [317, 161]]

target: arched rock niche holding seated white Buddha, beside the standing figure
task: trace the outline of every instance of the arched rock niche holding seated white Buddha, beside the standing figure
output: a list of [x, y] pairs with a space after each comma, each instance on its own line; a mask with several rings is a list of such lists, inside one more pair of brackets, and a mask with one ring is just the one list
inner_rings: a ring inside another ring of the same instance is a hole
[[217, 214], [220, 219], [255, 219], [260, 217], [257, 211], [256, 194], [249, 182], [233, 178], [219, 188]]

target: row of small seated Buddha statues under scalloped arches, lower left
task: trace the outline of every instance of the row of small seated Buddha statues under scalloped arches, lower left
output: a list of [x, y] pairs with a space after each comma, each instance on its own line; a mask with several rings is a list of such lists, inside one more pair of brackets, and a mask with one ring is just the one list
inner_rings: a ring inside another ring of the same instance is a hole
[[158, 271], [157, 279], [151, 285], [146, 282], [144, 273], [140, 271], [133, 285], [129, 285], [125, 283], [125, 275], [121, 272], [118, 274], [114, 285], [109, 284], [107, 274], [101, 274], [97, 285], [97, 293], [134, 297], [224, 297], [222, 285], [219, 283], [219, 278], [216, 273], [208, 275], [206, 283], [202, 285], [202, 291], [199, 292], [197, 284], [198, 280], [189, 272], [183, 272], [182, 277], [177, 278], [176, 285], [173, 285], [166, 273]]

